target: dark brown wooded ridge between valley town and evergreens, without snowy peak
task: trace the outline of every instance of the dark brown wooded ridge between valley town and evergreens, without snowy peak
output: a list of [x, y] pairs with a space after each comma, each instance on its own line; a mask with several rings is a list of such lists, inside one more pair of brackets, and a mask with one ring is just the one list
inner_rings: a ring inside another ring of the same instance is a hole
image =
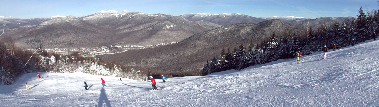
[[250, 41], [255, 45], [266, 40], [273, 31], [282, 36], [288, 28], [292, 31], [302, 30], [302, 27], [295, 27], [279, 19], [260, 23], [244, 22], [197, 33], [168, 46], [129, 50], [100, 57], [108, 61], [119, 61], [123, 65], [150, 68], [154, 71], [199, 71], [207, 60], [211, 60], [214, 55], [220, 55], [222, 48], [230, 48], [233, 51], [241, 42]]

